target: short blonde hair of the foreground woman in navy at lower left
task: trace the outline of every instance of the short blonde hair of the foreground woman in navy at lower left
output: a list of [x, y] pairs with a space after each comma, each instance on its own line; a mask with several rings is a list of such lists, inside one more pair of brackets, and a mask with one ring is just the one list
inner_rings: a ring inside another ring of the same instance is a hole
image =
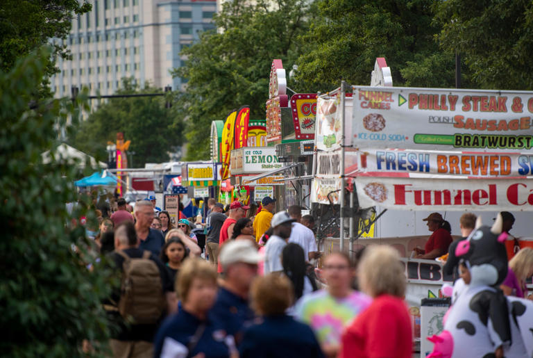
[[204, 279], [217, 286], [217, 271], [205, 260], [189, 258], [185, 260], [176, 276], [176, 293], [182, 302], [187, 300], [194, 279]]

